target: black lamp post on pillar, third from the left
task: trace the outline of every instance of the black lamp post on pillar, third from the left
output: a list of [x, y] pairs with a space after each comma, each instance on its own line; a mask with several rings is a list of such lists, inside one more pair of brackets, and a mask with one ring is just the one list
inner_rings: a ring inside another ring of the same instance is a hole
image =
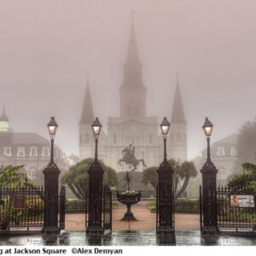
[[167, 161], [166, 139], [171, 124], [166, 119], [160, 124], [162, 135], [164, 137], [164, 160], [157, 170], [158, 173], [158, 200], [157, 200], [157, 229], [160, 233], [174, 233], [173, 228], [173, 189], [172, 189], [172, 166]]

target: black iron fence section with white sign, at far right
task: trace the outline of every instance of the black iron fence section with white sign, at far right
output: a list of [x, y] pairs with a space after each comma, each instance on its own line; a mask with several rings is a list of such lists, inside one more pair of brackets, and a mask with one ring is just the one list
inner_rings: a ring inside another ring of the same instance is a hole
[[256, 212], [253, 189], [217, 189], [218, 227], [255, 230]]

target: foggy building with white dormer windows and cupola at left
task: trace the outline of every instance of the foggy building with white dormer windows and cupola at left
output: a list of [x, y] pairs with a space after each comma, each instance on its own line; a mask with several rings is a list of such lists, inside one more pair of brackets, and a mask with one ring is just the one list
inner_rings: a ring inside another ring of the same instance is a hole
[[[61, 169], [61, 175], [67, 172], [70, 164], [55, 145], [55, 163]], [[24, 165], [21, 172], [38, 185], [43, 185], [44, 167], [50, 157], [50, 142], [36, 133], [15, 133], [9, 126], [9, 118], [3, 108], [0, 116], [0, 165]]]

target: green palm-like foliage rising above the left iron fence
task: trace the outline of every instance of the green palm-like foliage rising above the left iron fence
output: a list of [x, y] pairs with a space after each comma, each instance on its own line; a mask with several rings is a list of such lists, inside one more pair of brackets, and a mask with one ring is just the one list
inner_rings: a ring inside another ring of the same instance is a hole
[[18, 187], [31, 187], [34, 185], [26, 178], [26, 173], [19, 172], [22, 166], [5, 166], [0, 168], [0, 185], [3, 187], [9, 186], [12, 189]]

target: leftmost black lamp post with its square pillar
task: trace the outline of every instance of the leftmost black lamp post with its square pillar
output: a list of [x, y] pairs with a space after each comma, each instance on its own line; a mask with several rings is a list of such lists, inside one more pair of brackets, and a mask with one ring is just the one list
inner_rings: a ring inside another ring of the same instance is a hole
[[44, 168], [44, 228], [47, 233], [58, 233], [58, 191], [60, 169], [54, 161], [54, 139], [58, 128], [55, 118], [51, 117], [49, 124], [50, 137], [50, 160], [48, 166]]

